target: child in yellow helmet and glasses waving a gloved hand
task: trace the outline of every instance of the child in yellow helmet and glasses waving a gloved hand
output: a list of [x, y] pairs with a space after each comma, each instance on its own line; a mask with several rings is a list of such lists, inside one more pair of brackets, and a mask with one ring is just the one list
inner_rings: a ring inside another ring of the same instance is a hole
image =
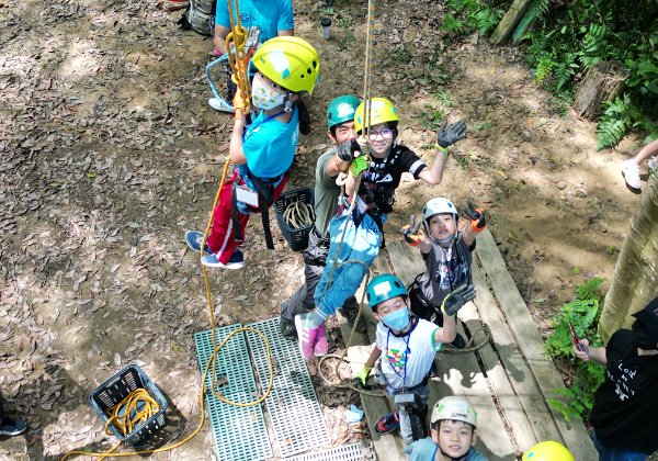
[[[365, 142], [370, 143], [370, 162], [363, 166], [359, 196], [379, 228], [393, 211], [395, 190], [402, 173], [408, 172], [413, 179], [422, 179], [429, 184], [439, 184], [443, 178], [447, 147], [466, 136], [466, 123], [457, 121], [449, 127], [444, 121], [438, 133], [439, 153], [428, 168], [410, 148], [396, 143], [399, 120], [397, 108], [386, 98], [373, 98], [361, 103], [354, 116], [354, 128], [360, 135], [367, 132]], [[355, 183], [355, 178], [350, 176], [345, 183], [348, 194], [353, 192]]]

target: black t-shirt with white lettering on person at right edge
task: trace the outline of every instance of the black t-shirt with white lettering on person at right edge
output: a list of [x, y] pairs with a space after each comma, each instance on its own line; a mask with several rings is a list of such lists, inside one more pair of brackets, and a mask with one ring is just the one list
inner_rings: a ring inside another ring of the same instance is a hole
[[658, 450], [658, 355], [637, 356], [631, 330], [620, 329], [605, 347], [605, 381], [597, 390], [590, 423], [611, 449]]

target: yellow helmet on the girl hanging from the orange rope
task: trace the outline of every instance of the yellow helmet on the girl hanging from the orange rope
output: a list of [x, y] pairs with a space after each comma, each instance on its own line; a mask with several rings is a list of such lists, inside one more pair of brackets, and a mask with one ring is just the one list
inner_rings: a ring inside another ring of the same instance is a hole
[[320, 75], [318, 52], [299, 37], [274, 37], [263, 43], [251, 63], [274, 83], [296, 93], [311, 93]]

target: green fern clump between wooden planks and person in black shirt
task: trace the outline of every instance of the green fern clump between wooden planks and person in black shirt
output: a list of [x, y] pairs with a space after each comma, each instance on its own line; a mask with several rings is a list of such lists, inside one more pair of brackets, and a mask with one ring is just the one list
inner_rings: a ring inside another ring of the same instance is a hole
[[[601, 345], [597, 333], [601, 315], [599, 301], [603, 279], [592, 278], [575, 290], [576, 299], [565, 304], [560, 313], [552, 319], [553, 333], [544, 344], [544, 348], [553, 359], [570, 359], [574, 355], [574, 344], [569, 333], [569, 323], [574, 326], [579, 338], [588, 338], [590, 347]], [[592, 361], [576, 363], [574, 382], [565, 390], [554, 390], [563, 400], [548, 400], [548, 403], [559, 412], [567, 421], [571, 418], [587, 418], [592, 408], [594, 391], [603, 382], [604, 367]]]

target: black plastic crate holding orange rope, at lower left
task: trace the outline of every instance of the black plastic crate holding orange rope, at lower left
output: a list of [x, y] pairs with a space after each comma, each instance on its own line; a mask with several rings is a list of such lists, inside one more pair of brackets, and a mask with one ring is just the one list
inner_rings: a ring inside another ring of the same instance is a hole
[[114, 425], [110, 425], [112, 432], [121, 441], [127, 441], [133, 445], [141, 443], [164, 427], [167, 411], [167, 398], [160, 390], [148, 379], [146, 373], [136, 364], [129, 364], [123, 370], [116, 372], [112, 378], [101, 384], [89, 396], [89, 402], [103, 420], [103, 425], [110, 419], [105, 413], [107, 408], [116, 405], [131, 392], [137, 389], [145, 389], [149, 395], [158, 402], [160, 411], [146, 421], [137, 426], [131, 434], [123, 436]]

